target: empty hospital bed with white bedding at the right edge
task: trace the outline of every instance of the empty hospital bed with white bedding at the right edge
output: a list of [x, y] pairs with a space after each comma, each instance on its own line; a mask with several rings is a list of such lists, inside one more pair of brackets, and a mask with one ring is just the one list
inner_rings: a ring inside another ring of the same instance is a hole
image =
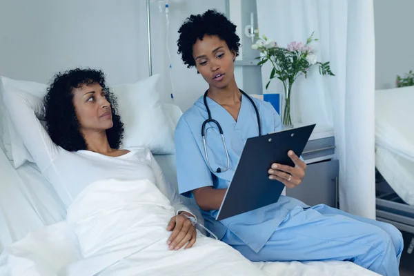
[[377, 219], [414, 234], [414, 86], [375, 92]]

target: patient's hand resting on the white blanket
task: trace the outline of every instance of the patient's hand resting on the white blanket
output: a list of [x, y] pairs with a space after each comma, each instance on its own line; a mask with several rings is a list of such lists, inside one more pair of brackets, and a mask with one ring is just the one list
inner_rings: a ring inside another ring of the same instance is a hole
[[[189, 213], [186, 214], [193, 216]], [[167, 242], [168, 246], [170, 246], [170, 250], [179, 250], [187, 243], [188, 244], [184, 249], [188, 249], [193, 247], [195, 244], [197, 231], [195, 230], [195, 226], [191, 224], [190, 219], [188, 219], [188, 217], [186, 217], [183, 213], [171, 218], [167, 230], [172, 231], [172, 234]]]

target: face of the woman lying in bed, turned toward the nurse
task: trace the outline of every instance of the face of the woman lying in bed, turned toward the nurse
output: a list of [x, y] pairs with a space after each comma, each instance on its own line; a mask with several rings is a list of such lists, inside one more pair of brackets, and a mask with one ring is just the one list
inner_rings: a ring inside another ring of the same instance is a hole
[[80, 131], [103, 131], [112, 128], [110, 103], [105, 91], [98, 83], [83, 85], [74, 89], [73, 105], [80, 125]]

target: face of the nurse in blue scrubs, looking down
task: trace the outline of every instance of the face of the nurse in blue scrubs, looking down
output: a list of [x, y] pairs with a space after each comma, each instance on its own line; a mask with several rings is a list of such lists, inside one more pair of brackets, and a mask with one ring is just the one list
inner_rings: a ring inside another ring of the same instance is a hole
[[234, 79], [236, 52], [217, 35], [205, 35], [193, 45], [195, 67], [208, 86], [225, 88]]

